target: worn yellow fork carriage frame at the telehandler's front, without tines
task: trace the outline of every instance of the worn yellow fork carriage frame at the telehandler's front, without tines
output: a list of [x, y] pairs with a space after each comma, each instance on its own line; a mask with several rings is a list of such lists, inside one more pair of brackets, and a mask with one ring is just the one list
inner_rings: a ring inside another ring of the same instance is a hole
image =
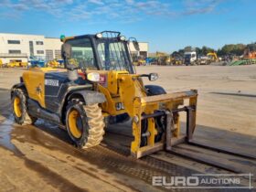
[[[187, 106], [184, 101], [188, 99]], [[197, 112], [197, 91], [184, 91], [169, 93], [165, 95], [136, 98], [133, 101], [134, 117], [133, 117], [133, 136], [131, 152], [136, 158], [144, 155], [152, 154], [159, 150], [171, 150], [173, 145], [183, 143], [192, 138], [196, 127]], [[180, 135], [179, 112], [187, 112], [187, 134]], [[142, 115], [140, 115], [142, 114]], [[155, 118], [165, 116], [165, 139], [162, 142], [155, 143]], [[148, 133], [147, 145], [141, 144], [141, 127], [142, 121], [147, 121]]]

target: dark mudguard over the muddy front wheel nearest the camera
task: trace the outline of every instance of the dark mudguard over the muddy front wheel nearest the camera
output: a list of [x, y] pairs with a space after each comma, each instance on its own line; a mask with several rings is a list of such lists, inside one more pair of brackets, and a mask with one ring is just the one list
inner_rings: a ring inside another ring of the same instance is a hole
[[69, 95], [68, 101], [69, 99], [76, 98], [77, 96], [81, 96], [87, 105], [106, 101], [105, 95], [103, 95], [101, 92], [89, 90], [72, 91], [72, 93]]

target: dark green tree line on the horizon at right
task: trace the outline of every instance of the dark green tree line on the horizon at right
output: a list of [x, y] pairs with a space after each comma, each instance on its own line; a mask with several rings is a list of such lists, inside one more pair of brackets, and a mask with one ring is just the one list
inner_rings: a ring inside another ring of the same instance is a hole
[[219, 48], [218, 50], [214, 48], [208, 48], [206, 46], [203, 46], [202, 48], [192, 48], [190, 46], [186, 48], [181, 48], [178, 51], [174, 51], [172, 55], [180, 55], [183, 56], [185, 52], [187, 51], [197, 51], [197, 55], [206, 56], [209, 52], [216, 52], [219, 57], [221, 56], [241, 56], [243, 55], [245, 49], [250, 49], [251, 51], [256, 51], [256, 42], [252, 44], [229, 44], [225, 45], [222, 48]]

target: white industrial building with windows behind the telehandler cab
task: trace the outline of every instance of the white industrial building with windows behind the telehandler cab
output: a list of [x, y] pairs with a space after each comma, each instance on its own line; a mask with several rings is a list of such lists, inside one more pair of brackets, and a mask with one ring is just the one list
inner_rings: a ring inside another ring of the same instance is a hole
[[[62, 42], [59, 38], [40, 35], [22, 35], [0, 33], [0, 59], [3, 63], [10, 61], [27, 62], [29, 59], [61, 59]], [[131, 44], [131, 53], [144, 58], [148, 55], [148, 43], [139, 43], [140, 51]]]

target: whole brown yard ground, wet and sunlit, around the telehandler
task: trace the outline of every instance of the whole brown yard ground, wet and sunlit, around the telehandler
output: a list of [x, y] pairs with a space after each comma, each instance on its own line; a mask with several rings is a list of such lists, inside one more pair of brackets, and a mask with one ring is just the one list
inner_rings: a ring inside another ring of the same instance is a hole
[[[74, 148], [67, 133], [51, 123], [17, 125], [9, 91], [22, 72], [0, 69], [1, 191], [162, 191], [167, 189], [153, 187], [152, 176], [229, 174], [165, 152], [134, 160], [129, 155], [129, 123], [110, 127], [103, 143], [86, 151]], [[159, 80], [144, 82], [161, 85], [167, 92], [198, 90], [197, 141], [256, 155], [256, 66], [147, 66], [137, 72], [157, 72]], [[255, 187], [255, 161], [237, 166], [244, 174], [254, 174]], [[242, 185], [247, 182], [243, 178]]]

